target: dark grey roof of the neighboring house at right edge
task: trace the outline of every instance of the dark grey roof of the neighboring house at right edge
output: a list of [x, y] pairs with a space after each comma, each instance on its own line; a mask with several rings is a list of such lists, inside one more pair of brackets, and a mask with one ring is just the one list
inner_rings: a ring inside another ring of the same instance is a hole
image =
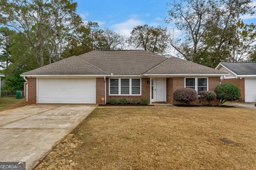
[[220, 65], [236, 75], [256, 75], [256, 62], [221, 62]]

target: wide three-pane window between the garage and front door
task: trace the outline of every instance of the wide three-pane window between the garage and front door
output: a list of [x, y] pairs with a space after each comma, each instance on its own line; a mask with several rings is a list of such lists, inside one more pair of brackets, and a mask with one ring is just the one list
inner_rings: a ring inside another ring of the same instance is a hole
[[140, 95], [141, 80], [140, 78], [110, 78], [109, 94], [110, 95]]

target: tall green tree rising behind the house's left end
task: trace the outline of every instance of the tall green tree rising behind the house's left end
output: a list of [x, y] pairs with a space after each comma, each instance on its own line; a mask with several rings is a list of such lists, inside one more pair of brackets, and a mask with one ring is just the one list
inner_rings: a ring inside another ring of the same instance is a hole
[[[39, 67], [45, 64], [47, 50], [54, 53], [59, 44], [64, 44], [60, 42], [63, 34], [68, 35], [70, 23], [76, 17], [77, 4], [71, 0], [0, 0], [0, 3], [0, 23], [25, 34]], [[49, 62], [51, 57], [48, 55]]]

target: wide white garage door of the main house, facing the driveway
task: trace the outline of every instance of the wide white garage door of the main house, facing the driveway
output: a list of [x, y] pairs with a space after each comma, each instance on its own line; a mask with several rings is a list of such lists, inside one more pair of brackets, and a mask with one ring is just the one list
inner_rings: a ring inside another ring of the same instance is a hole
[[96, 103], [95, 78], [37, 79], [38, 103]]

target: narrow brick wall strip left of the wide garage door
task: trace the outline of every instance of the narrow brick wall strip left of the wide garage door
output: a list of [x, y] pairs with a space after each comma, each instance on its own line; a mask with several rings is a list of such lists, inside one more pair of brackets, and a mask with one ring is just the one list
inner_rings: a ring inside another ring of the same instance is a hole
[[28, 104], [36, 104], [36, 78], [28, 78]]

